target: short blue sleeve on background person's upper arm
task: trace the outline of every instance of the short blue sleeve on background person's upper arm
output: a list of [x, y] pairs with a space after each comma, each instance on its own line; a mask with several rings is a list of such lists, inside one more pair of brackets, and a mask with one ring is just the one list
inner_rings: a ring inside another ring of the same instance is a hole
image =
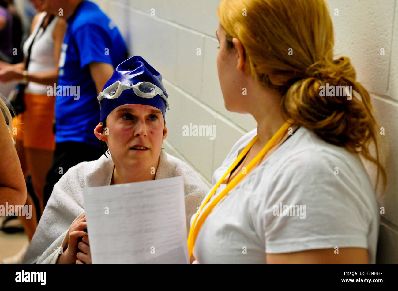
[[95, 23], [85, 23], [78, 27], [74, 39], [79, 51], [80, 69], [92, 62], [112, 64], [109, 55], [111, 41], [109, 35]]

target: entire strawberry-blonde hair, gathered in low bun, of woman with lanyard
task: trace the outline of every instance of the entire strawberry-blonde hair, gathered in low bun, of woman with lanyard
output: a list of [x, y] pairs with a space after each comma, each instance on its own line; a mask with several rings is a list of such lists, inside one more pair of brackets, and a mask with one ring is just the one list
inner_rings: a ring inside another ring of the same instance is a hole
[[[380, 175], [385, 189], [370, 96], [356, 81], [349, 58], [333, 60], [334, 31], [326, 2], [221, 0], [217, 13], [228, 48], [234, 37], [239, 39], [256, 81], [281, 93], [283, 115], [374, 163], [376, 189]], [[352, 86], [359, 96], [321, 96], [320, 87], [327, 84]], [[372, 142], [376, 158], [369, 151]]]

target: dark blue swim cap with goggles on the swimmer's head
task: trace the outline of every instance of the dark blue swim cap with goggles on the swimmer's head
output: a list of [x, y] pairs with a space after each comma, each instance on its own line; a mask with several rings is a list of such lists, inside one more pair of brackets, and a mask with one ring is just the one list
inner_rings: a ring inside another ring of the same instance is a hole
[[142, 104], [158, 108], [166, 124], [168, 94], [162, 83], [162, 75], [140, 56], [133, 56], [119, 64], [103, 91], [98, 96], [101, 119], [124, 104]]

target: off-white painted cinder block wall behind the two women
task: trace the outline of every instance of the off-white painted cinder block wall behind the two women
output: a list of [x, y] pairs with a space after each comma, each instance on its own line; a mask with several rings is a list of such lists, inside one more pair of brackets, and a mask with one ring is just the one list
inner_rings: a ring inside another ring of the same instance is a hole
[[[115, 21], [131, 55], [164, 77], [170, 111], [167, 152], [191, 165], [209, 185], [234, 142], [256, 127], [230, 113], [217, 76], [219, 0], [94, 0]], [[378, 262], [398, 263], [398, 5], [397, 0], [328, 0], [336, 57], [347, 56], [372, 94], [384, 135], [388, 185], [383, 198]], [[383, 53], [384, 52], [384, 53]], [[215, 125], [215, 138], [185, 137], [183, 126]], [[373, 169], [369, 173], [374, 175]]]

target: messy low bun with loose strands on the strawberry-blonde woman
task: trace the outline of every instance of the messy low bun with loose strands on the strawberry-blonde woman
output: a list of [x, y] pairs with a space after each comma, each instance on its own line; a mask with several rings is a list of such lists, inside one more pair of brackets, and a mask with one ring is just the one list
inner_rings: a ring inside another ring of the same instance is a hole
[[[283, 113], [328, 143], [361, 154], [375, 164], [376, 189], [380, 175], [385, 189], [386, 171], [380, 163], [371, 98], [355, 81], [355, 69], [349, 58], [316, 62], [308, 67], [306, 75], [310, 77], [296, 81], [283, 95]], [[327, 89], [331, 89], [332, 94]], [[376, 158], [369, 152], [372, 142]]]

